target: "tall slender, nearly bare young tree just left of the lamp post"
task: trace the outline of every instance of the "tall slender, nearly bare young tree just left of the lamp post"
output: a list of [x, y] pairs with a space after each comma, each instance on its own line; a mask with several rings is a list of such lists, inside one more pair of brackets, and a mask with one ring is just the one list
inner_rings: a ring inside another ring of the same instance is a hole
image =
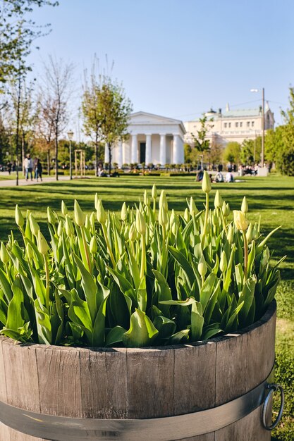
[[[55, 175], [59, 179], [59, 136], [68, 123], [68, 100], [71, 95], [71, 79], [73, 64], [63, 64], [49, 56], [49, 63], [44, 65], [44, 86], [40, 87], [39, 108], [41, 109], [41, 126], [45, 128], [48, 146], [54, 139], [55, 146]], [[40, 127], [40, 124], [39, 124]]]

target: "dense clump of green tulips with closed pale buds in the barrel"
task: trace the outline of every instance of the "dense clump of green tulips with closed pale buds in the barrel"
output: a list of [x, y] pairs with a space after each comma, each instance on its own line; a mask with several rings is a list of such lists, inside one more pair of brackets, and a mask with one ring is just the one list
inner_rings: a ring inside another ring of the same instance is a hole
[[[257, 321], [280, 280], [269, 237], [249, 224], [246, 199], [234, 220], [204, 173], [204, 210], [188, 200], [178, 215], [163, 190], [104, 211], [48, 208], [47, 243], [30, 211], [16, 206], [23, 236], [0, 248], [0, 333], [20, 342], [146, 347], [208, 340]], [[283, 259], [282, 259], [283, 260]], [[281, 262], [281, 261], [280, 261]], [[279, 262], [279, 263], [280, 263]]]

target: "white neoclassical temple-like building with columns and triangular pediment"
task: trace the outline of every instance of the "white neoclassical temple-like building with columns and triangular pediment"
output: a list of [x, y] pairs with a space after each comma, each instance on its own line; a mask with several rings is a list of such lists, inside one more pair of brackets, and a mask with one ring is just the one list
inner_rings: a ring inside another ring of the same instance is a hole
[[[147, 112], [130, 116], [130, 134], [125, 142], [119, 142], [112, 150], [112, 163], [182, 164], [184, 162], [185, 127], [180, 120]], [[105, 162], [109, 152], [105, 149]]]

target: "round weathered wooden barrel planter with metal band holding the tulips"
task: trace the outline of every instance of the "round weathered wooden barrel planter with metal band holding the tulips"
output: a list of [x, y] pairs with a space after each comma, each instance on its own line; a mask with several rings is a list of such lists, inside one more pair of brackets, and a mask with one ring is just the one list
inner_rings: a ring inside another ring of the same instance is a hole
[[0, 441], [269, 441], [276, 302], [208, 342], [85, 349], [0, 339]]

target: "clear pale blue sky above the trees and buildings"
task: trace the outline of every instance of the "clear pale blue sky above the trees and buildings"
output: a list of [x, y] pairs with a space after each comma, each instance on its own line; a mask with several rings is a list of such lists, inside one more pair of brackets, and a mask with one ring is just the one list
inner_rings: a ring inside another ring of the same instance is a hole
[[281, 123], [294, 75], [293, 0], [59, 0], [33, 18], [51, 23], [30, 60], [49, 54], [83, 70], [114, 60], [134, 111], [189, 120], [211, 106], [250, 108], [262, 94]]

